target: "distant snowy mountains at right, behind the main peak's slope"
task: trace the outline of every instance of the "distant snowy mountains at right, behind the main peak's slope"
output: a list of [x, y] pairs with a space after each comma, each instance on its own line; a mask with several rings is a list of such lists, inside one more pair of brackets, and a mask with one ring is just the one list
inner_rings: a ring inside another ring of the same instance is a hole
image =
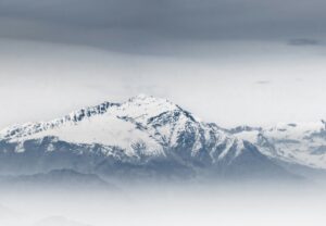
[[326, 168], [326, 122], [278, 124], [269, 128], [229, 130], [268, 156], [315, 168]]

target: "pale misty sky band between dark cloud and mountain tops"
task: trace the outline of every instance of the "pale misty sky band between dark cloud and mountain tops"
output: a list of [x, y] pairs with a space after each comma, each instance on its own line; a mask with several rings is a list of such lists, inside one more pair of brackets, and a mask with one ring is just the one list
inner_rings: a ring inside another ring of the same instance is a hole
[[170, 55], [13, 40], [1, 47], [1, 128], [139, 93], [166, 98], [226, 127], [325, 118], [319, 46], [184, 43], [172, 46]]

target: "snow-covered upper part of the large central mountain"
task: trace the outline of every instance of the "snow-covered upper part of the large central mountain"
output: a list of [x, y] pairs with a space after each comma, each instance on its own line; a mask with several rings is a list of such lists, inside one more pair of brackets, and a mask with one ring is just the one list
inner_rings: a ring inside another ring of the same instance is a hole
[[[0, 138], [23, 142], [42, 137], [58, 137], [74, 143], [116, 146], [128, 155], [135, 154], [135, 145], [143, 143], [146, 154], [164, 155], [164, 148], [176, 148], [180, 145], [180, 135], [185, 131], [191, 134], [192, 155], [205, 145], [214, 149], [214, 146], [221, 143], [231, 147], [238, 142], [237, 154], [241, 151], [241, 141], [216, 126], [198, 122], [190, 113], [165, 99], [145, 95], [121, 104], [105, 102], [85, 108], [51, 122], [9, 127], [0, 131]], [[227, 148], [218, 158], [226, 155], [226, 152]]]

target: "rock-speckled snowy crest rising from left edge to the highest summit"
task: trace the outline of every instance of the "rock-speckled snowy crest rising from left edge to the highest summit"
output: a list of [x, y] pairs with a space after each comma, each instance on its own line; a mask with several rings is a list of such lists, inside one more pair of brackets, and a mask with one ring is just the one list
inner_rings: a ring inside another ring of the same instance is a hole
[[95, 106], [87, 106], [78, 111], [71, 112], [63, 117], [49, 122], [26, 123], [7, 127], [0, 131], [0, 139], [24, 138], [66, 125], [80, 124], [85, 120], [90, 121], [99, 117], [100, 115], [104, 115], [104, 117], [113, 116], [124, 120], [133, 118], [133, 121], [137, 121], [138, 123], [146, 125], [147, 122], [152, 117], [174, 111], [184, 110], [166, 99], [154, 98], [153, 96], [147, 95], [138, 95], [123, 103], [112, 103], [105, 101]]

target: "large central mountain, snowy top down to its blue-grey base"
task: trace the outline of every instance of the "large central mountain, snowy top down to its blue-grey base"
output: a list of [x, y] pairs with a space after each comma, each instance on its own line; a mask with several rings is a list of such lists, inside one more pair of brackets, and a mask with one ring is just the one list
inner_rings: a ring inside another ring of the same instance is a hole
[[2, 174], [58, 168], [121, 178], [287, 175], [250, 142], [143, 95], [0, 131]]

